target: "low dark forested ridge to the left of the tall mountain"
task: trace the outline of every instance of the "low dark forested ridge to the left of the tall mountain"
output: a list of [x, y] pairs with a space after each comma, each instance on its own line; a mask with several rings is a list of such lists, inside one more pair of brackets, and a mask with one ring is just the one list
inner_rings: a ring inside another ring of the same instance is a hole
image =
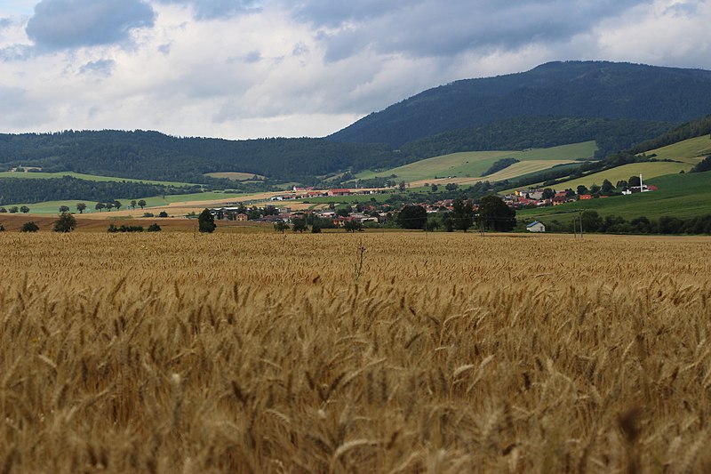
[[213, 172], [308, 180], [353, 165], [389, 165], [394, 158], [384, 145], [313, 138], [230, 141], [140, 130], [0, 134], [0, 167], [159, 181], [210, 182], [204, 173]]

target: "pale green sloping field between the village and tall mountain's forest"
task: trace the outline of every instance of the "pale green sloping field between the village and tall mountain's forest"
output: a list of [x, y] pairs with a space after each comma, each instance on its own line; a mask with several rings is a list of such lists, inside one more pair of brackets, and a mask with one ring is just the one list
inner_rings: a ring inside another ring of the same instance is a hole
[[[447, 176], [453, 176], [455, 178], [477, 178], [480, 177], [482, 173], [485, 173], [491, 165], [501, 158], [513, 157], [521, 162], [551, 161], [552, 163], [550, 166], [553, 166], [568, 160], [592, 157], [595, 153], [595, 148], [595, 141], [585, 141], [582, 143], [563, 145], [561, 147], [550, 149], [531, 149], [527, 151], [468, 151], [453, 153], [451, 155], [443, 155], [442, 157], [427, 158], [409, 165], [391, 168], [386, 171], [365, 171], [363, 173], [356, 174], [356, 177], [361, 179], [374, 177], [387, 178], [392, 174], [396, 174], [397, 181], [432, 180], [435, 179], [435, 176], [441, 178]], [[537, 169], [531, 171], [539, 171], [539, 167], [540, 165], [536, 167]], [[531, 173], [531, 171], [525, 171], [524, 168], [522, 173]], [[489, 178], [490, 177], [487, 177], [487, 179]], [[494, 179], [497, 179], [497, 177], [494, 176]]]

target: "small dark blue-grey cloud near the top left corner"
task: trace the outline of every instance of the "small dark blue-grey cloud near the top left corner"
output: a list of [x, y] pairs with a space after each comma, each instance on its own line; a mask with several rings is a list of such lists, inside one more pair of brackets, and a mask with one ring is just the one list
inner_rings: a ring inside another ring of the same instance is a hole
[[153, 8], [142, 0], [43, 0], [28, 21], [37, 48], [55, 51], [123, 43], [133, 28], [152, 27]]

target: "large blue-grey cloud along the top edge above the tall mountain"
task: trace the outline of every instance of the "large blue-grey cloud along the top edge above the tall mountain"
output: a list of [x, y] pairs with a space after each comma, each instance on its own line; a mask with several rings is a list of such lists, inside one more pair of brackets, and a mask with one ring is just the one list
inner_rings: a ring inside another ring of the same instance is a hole
[[643, 0], [312, 0], [295, 11], [322, 33], [327, 60], [363, 48], [413, 57], [452, 56], [469, 50], [512, 50], [531, 42], [562, 42]]

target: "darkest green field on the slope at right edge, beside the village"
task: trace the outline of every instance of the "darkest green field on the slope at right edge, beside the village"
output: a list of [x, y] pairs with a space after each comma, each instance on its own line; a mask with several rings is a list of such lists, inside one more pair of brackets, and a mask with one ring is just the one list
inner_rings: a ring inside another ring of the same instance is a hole
[[656, 219], [664, 215], [681, 218], [711, 213], [711, 172], [668, 174], [647, 181], [658, 191], [631, 196], [607, 197], [577, 201], [542, 209], [525, 209], [516, 213], [524, 221], [557, 219], [569, 221], [580, 210], [595, 210], [600, 215], [620, 215], [625, 219], [646, 216]]

